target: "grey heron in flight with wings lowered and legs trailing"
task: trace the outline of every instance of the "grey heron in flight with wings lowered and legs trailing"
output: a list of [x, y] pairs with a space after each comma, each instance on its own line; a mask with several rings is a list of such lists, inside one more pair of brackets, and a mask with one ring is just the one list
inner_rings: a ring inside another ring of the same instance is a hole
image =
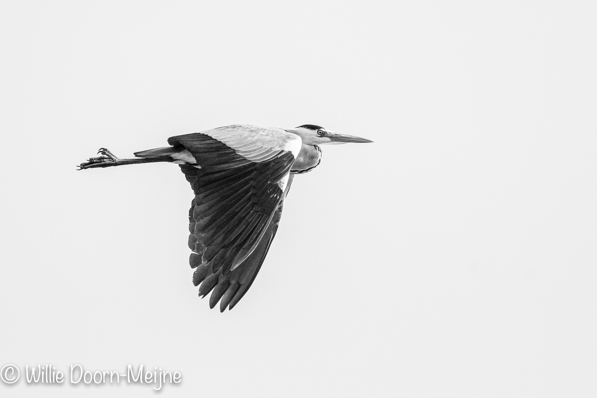
[[278, 230], [295, 174], [321, 161], [321, 144], [370, 143], [306, 124], [293, 129], [232, 125], [168, 138], [170, 146], [120, 159], [106, 148], [79, 169], [178, 163], [195, 192], [189, 210], [189, 258], [199, 295], [230, 310], [257, 276]]

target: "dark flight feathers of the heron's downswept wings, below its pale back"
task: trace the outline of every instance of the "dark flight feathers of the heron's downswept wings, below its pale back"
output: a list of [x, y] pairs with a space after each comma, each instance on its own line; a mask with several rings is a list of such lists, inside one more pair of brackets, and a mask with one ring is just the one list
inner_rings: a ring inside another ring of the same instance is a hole
[[195, 192], [189, 211], [193, 283], [201, 283], [203, 297], [213, 290], [210, 307], [221, 300], [221, 311], [232, 308], [253, 283], [278, 229], [294, 155], [251, 143], [239, 155], [201, 133], [168, 143], [183, 146], [197, 162], [180, 165]]

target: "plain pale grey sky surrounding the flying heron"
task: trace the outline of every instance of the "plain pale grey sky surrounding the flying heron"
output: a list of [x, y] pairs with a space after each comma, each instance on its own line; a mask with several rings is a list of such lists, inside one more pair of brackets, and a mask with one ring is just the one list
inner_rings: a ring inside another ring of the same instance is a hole
[[[595, 397], [596, 9], [2, 0], [0, 395]], [[375, 143], [323, 147], [220, 313], [179, 168], [75, 166], [229, 124]]]

